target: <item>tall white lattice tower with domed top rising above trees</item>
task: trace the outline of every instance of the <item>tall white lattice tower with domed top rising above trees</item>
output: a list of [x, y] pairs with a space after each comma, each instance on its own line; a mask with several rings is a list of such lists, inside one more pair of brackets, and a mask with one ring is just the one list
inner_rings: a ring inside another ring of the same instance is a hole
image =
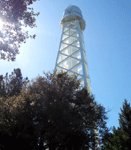
[[63, 18], [60, 22], [62, 35], [55, 70], [57, 69], [58, 72], [63, 70], [69, 75], [78, 75], [80, 88], [86, 86], [89, 94], [91, 94], [83, 39], [85, 26], [81, 10], [77, 6], [69, 5], [65, 9]]

